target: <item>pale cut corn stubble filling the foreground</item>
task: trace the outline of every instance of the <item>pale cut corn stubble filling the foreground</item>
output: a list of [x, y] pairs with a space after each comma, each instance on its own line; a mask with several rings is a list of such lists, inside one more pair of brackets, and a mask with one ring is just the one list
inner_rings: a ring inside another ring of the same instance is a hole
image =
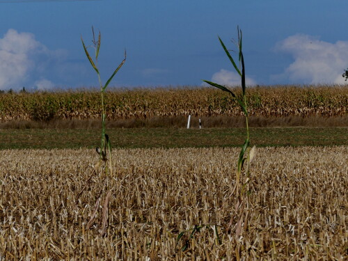
[[[236, 238], [237, 198], [229, 191], [238, 154], [238, 148], [114, 150], [113, 175], [92, 175], [84, 189], [93, 151], [1, 150], [0, 259], [348, 258], [347, 146], [258, 148], [250, 211]], [[102, 237], [102, 216], [89, 230], [87, 223], [106, 183], [112, 193]], [[177, 242], [180, 232], [200, 224], [212, 226]]]

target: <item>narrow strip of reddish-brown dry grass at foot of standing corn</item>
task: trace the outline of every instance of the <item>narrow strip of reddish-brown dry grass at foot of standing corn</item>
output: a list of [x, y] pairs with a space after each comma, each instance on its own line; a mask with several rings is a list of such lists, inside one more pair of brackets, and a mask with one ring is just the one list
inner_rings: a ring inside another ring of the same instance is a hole
[[[188, 116], [151, 117], [106, 120], [107, 129], [115, 128], [182, 128], [187, 126]], [[192, 129], [199, 127], [199, 119], [204, 128], [241, 128], [245, 127], [244, 116], [191, 116]], [[0, 122], [0, 129], [100, 129], [97, 119], [53, 119], [49, 121], [10, 120]], [[345, 116], [286, 116], [264, 117], [250, 116], [249, 127], [348, 127], [348, 114]]]

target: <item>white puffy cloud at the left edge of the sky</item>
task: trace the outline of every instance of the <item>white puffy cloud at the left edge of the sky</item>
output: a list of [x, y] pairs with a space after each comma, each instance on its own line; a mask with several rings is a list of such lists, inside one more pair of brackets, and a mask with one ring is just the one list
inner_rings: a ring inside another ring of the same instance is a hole
[[[27, 84], [32, 85], [30, 83], [35, 79], [31, 78], [36, 74], [42, 74], [47, 62], [55, 56], [57, 53], [49, 51], [45, 45], [35, 40], [32, 33], [18, 33], [9, 29], [3, 38], [0, 38], [0, 90], [16, 90]], [[40, 85], [40, 81], [38, 83]], [[52, 85], [51, 82], [51, 85], [47, 86]]]

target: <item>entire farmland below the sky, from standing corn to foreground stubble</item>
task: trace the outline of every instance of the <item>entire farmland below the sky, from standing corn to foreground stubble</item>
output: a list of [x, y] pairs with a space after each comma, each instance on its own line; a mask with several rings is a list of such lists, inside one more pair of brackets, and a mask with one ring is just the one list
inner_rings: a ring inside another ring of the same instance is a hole
[[348, 88], [302, 87], [248, 88], [242, 204], [226, 93], [108, 92], [108, 175], [98, 92], [0, 93], [0, 261], [348, 260]]

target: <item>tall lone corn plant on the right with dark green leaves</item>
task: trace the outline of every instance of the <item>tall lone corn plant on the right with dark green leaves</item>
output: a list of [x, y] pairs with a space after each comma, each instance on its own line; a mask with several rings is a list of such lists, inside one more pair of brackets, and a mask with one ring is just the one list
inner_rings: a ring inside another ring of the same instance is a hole
[[[228, 58], [230, 59], [230, 62], [232, 63], [233, 67], [235, 68], [235, 70], [237, 71], [237, 73], [239, 74], [239, 76], [241, 77], [241, 81], [242, 81], [242, 97], [239, 98], [235, 95], [235, 93], [233, 93], [231, 90], [229, 90], [228, 88], [226, 88], [225, 86], [222, 86], [220, 84], [216, 84], [212, 81], [205, 81], [207, 84], [214, 86], [216, 88], [219, 88], [223, 91], [226, 91], [227, 93], [230, 93], [230, 95], [232, 95], [233, 99], [236, 100], [239, 104], [239, 106], [241, 107], [245, 119], [246, 119], [246, 139], [244, 141], [244, 144], [242, 145], [242, 150], [239, 153], [239, 159], [238, 159], [238, 163], [237, 163], [237, 174], [236, 174], [236, 186], [235, 189], [237, 189], [237, 193], [239, 193], [239, 196], [242, 196], [242, 193], [244, 193], [246, 184], [249, 181], [249, 165], [250, 165], [250, 161], [253, 158], [254, 152], [255, 152], [255, 146], [250, 150], [249, 146], [250, 146], [250, 138], [249, 138], [249, 127], [248, 127], [248, 107], [247, 107], [247, 103], [246, 103], [246, 84], [245, 84], [245, 65], [244, 65], [244, 56], [243, 56], [243, 52], [242, 52], [242, 30], [239, 29], [239, 27], [237, 27], [237, 31], [238, 31], [238, 42], [237, 42], [237, 47], [239, 49], [238, 52], [238, 61], [239, 61], [239, 67], [242, 66], [242, 70], [237, 66], [237, 64], [235, 63], [235, 60], [232, 58], [230, 51], [226, 48], [226, 45], [223, 43], [223, 41], [221, 40], [221, 38], [219, 37], [219, 41], [221, 46], [223, 47], [223, 50], [226, 52], [226, 55], [228, 56]], [[244, 182], [244, 184], [241, 184], [241, 173], [242, 173], [242, 168], [245, 164], [245, 162], [248, 163], [248, 167], [247, 167], [247, 178], [246, 181]], [[235, 190], [234, 189], [234, 190]]]

